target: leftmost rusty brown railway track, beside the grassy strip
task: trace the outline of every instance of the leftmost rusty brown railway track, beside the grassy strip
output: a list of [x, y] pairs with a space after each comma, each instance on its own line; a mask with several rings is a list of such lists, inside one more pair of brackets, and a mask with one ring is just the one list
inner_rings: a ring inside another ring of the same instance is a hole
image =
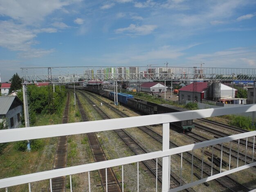
[[[68, 123], [68, 112], [70, 105], [70, 93], [67, 94], [67, 102], [62, 118], [62, 123]], [[53, 169], [64, 168], [67, 165], [67, 136], [60, 136], [58, 138], [58, 145], [54, 158]], [[56, 177], [52, 179], [52, 192], [66, 191], [66, 176]]]

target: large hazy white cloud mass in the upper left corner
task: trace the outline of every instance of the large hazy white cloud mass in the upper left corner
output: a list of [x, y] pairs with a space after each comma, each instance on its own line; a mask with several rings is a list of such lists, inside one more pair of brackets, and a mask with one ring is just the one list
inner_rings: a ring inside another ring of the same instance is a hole
[[[38, 58], [54, 49], [35, 49], [38, 33], [56, 33], [68, 26], [63, 22], [52, 23], [53, 27], [41, 27], [45, 18], [56, 10], [80, 0], [0, 0], [0, 16], [9, 20], [0, 20], [0, 46], [11, 51], [20, 51], [19, 56]], [[11, 18], [11, 19], [10, 19]], [[55, 27], [55, 28], [54, 28]]]

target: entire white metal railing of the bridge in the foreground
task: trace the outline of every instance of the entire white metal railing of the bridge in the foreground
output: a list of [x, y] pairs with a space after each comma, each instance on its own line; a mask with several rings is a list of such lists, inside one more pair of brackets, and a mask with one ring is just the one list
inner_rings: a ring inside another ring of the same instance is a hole
[[[247, 164], [246, 158], [245, 158], [245, 165], [243, 166], [238, 167], [237, 165], [236, 168], [233, 168], [231, 170], [229, 168], [229, 170], [225, 172], [221, 172], [221, 169], [220, 169], [220, 173], [218, 174], [214, 174], [206, 178], [193, 181], [193, 177], [192, 177], [193, 161], [192, 161], [191, 183], [188, 183], [170, 190], [169, 189], [169, 185], [170, 185], [169, 172], [170, 172], [170, 161], [171, 161], [170, 156], [174, 154], [180, 154], [180, 153], [182, 154], [184, 152], [200, 149], [207, 146], [231, 142], [241, 138], [253, 137], [255, 142], [256, 131], [232, 135], [224, 138], [218, 138], [210, 141], [204, 141], [201, 143], [185, 145], [182, 147], [169, 149], [169, 123], [175, 122], [175, 121], [183, 121], [183, 120], [189, 120], [189, 119], [206, 118], [210, 116], [220, 116], [220, 115], [226, 115], [226, 114], [252, 112], [252, 111], [256, 111], [256, 105], [243, 105], [241, 107], [234, 107], [234, 108], [201, 109], [201, 110], [194, 110], [194, 111], [187, 111], [187, 112], [168, 113], [168, 114], [158, 114], [158, 115], [138, 116], [138, 117], [129, 117], [129, 118], [117, 118], [117, 119], [109, 119], [109, 120], [101, 120], [101, 121], [89, 121], [89, 122], [81, 122], [81, 123], [69, 123], [69, 124], [60, 124], [60, 125], [48, 125], [48, 126], [27, 127], [27, 128], [20, 128], [20, 129], [0, 130], [0, 143], [5, 143], [5, 142], [21, 141], [21, 140], [36, 139], [36, 138], [83, 134], [83, 133], [89, 133], [89, 132], [101, 132], [101, 131], [114, 130], [114, 129], [125, 129], [128, 127], [138, 127], [143, 125], [163, 124], [162, 151], [0, 179], [0, 188], [8, 188], [13, 185], [28, 183], [29, 190], [30, 190], [31, 182], [49, 179], [51, 183], [52, 178], [59, 177], [59, 176], [67, 176], [67, 175], [70, 175], [70, 181], [71, 181], [71, 175], [83, 173], [83, 172], [88, 172], [89, 185], [90, 185], [90, 172], [93, 170], [106, 169], [108, 167], [126, 165], [129, 163], [136, 163], [140, 161], [146, 161], [149, 159], [159, 159], [159, 158], [162, 158], [162, 178], [163, 178], [162, 191], [178, 191], [185, 188], [189, 188], [194, 185], [198, 185], [200, 183], [204, 183], [206, 181], [211, 181], [221, 176], [225, 176], [227, 174], [231, 174], [252, 166], [256, 166], [256, 162], [254, 162], [254, 159], [253, 159], [252, 163]], [[254, 148], [252, 150], [252, 154], [254, 156]], [[181, 172], [182, 172], [182, 169], [181, 169]], [[123, 179], [123, 166], [122, 166], [122, 179]], [[139, 179], [137, 181], [137, 185], [139, 189]]]

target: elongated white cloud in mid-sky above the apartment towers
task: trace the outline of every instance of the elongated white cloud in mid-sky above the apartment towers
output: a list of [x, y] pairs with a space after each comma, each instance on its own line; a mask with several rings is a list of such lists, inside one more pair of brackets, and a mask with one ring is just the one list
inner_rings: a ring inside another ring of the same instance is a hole
[[148, 35], [152, 33], [156, 28], [157, 28], [156, 25], [136, 26], [134, 24], [130, 24], [129, 27], [116, 29], [115, 32], [116, 33], [128, 32], [132, 35]]

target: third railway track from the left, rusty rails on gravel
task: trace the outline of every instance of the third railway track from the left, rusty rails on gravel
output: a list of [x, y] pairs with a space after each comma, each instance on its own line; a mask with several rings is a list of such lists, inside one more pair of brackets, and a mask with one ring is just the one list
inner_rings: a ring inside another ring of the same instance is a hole
[[[93, 103], [83, 92], [80, 92], [80, 93], [82, 93], [85, 96], [85, 98], [88, 100], [88, 102], [91, 105], [93, 105], [94, 109], [100, 115], [102, 115], [103, 119], [110, 119], [110, 117], [105, 112], [103, 112], [99, 107], [97, 107], [97, 105], [95, 105], [95, 103]], [[105, 103], [105, 102], [103, 102], [103, 103]], [[104, 105], [107, 105], [107, 103], [105, 103]], [[126, 116], [124, 113], [120, 112], [118, 109], [115, 109], [111, 105], [108, 105], [108, 107], [111, 107], [111, 109], [113, 111], [117, 112], [118, 114], [120, 114], [122, 116]], [[130, 136], [128, 134], [128, 132], [126, 132], [125, 130], [123, 130], [123, 129], [116, 129], [114, 131], [124, 141], [124, 143], [126, 143], [126, 145], [128, 145], [128, 147], [130, 147], [132, 152], [134, 152], [136, 155], [138, 155], [138, 154], [145, 154], [145, 153], [149, 152], [148, 150], [146, 150], [145, 147], [143, 147], [143, 145], [141, 145], [135, 138]], [[147, 161], [142, 161], [142, 163], [144, 163], [144, 165], [148, 168], [148, 170], [154, 176], [156, 176], [156, 160], [155, 159], [150, 159], [150, 160], [147, 160]], [[171, 172], [170, 176], [171, 176], [171, 181], [170, 181], [171, 188], [179, 187], [180, 186], [180, 182], [182, 182], [182, 185], [186, 184], [175, 173]], [[162, 183], [162, 164], [159, 161], [157, 162], [157, 180]], [[189, 189], [186, 189], [185, 191], [193, 192], [194, 190], [189, 188]]]

